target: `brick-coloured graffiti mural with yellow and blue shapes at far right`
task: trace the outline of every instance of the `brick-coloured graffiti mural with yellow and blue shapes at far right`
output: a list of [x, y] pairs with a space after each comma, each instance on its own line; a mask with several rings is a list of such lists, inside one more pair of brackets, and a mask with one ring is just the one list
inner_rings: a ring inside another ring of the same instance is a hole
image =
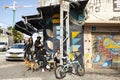
[[[99, 63], [102, 59], [102, 67], [110, 67], [112, 56], [120, 52], [120, 35], [94, 35], [93, 40], [93, 63]], [[101, 58], [104, 57], [104, 58]]]

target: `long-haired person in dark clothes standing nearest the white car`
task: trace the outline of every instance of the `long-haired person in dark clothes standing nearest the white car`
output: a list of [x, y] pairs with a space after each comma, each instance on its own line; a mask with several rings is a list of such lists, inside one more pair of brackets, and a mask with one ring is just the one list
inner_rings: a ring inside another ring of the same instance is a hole
[[28, 39], [28, 41], [25, 43], [25, 48], [24, 48], [25, 54], [24, 54], [24, 58], [33, 59], [33, 56], [32, 56], [32, 46], [33, 46], [33, 39], [32, 39], [32, 37], [30, 37], [30, 38]]

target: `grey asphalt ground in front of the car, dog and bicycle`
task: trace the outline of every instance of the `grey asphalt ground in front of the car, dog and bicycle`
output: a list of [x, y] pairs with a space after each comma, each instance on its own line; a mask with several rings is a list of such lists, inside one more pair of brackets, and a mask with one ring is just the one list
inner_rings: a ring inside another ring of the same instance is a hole
[[[25, 71], [23, 61], [6, 61], [0, 52], [0, 80], [57, 80], [54, 71]], [[62, 80], [120, 80], [120, 71], [86, 70], [84, 76], [67, 74]]]

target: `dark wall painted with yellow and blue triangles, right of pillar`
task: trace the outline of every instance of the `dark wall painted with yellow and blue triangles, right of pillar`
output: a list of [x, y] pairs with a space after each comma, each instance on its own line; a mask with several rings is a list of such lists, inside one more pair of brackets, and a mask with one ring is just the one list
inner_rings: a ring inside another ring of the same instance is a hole
[[83, 28], [81, 26], [70, 24], [70, 58], [72, 59], [72, 52], [80, 51], [84, 55], [84, 46], [83, 46]]

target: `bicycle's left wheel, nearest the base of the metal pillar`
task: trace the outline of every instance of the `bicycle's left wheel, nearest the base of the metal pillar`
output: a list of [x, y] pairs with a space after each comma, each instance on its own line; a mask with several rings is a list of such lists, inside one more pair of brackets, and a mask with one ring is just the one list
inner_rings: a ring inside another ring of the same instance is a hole
[[62, 65], [59, 65], [55, 68], [55, 77], [57, 79], [63, 79], [65, 76], [66, 76], [66, 73], [63, 72], [63, 66]]

